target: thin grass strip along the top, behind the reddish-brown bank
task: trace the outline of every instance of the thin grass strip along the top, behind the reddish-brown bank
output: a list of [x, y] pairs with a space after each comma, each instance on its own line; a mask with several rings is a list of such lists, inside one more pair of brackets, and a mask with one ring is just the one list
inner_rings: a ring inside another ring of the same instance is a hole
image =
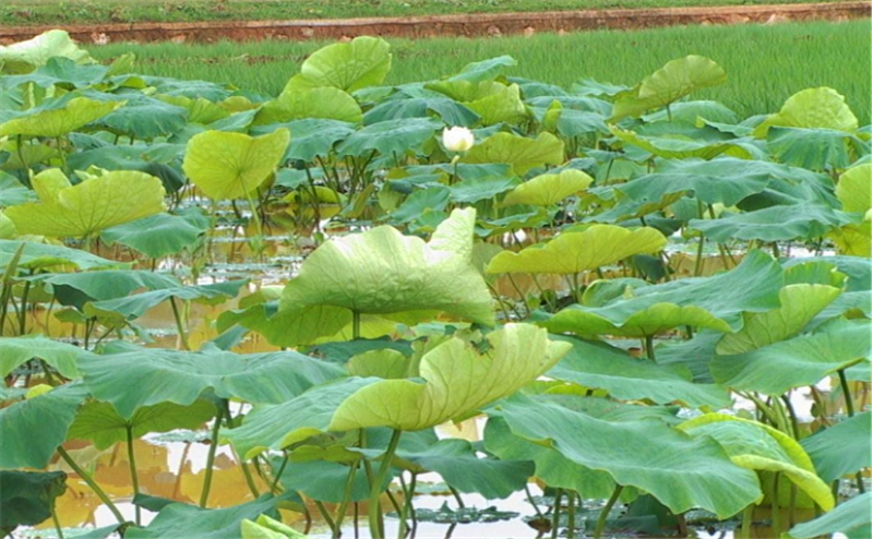
[[[343, 19], [811, 0], [4, 0], [0, 25]], [[818, 2], [838, 0], [816, 0]]]

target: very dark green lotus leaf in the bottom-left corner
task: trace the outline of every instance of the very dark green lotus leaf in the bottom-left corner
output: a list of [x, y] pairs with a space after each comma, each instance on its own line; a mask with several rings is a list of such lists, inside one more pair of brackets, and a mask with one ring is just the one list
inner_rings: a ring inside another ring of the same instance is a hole
[[67, 490], [63, 471], [0, 471], [0, 532], [12, 535], [19, 526], [35, 526], [55, 514], [56, 500]]

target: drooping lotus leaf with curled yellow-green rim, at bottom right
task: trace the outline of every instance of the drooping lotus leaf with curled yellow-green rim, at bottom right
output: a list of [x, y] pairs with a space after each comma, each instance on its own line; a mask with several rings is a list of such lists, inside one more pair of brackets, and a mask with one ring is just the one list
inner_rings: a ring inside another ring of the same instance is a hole
[[788, 434], [757, 421], [723, 414], [707, 414], [677, 428], [693, 436], [711, 438], [743, 468], [784, 474], [824, 511], [834, 508], [830, 487], [815, 475], [810, 456]]

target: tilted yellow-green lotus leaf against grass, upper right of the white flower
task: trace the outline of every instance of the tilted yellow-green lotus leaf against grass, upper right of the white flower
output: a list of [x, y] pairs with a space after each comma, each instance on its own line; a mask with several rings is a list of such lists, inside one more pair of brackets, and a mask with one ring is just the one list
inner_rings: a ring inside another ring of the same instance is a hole
[[716, 86], [728, 75], [719, 64], [702, 56], [686, 56], [667, 62], [631, 89], [615, 96], [612, 119], [637, 117], [655, 107], [663, 107], [697, 89]]

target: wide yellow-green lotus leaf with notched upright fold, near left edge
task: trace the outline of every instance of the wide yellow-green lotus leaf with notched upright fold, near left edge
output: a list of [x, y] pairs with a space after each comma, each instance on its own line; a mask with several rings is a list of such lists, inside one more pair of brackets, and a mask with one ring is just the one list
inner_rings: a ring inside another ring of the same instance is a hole
[[76, 185], [57, 169], [33, 179], [40, 202], [7, 208], [19, 233], [87, 238], [164, 211], [164, 185], [154, 176], [112, 171]]

